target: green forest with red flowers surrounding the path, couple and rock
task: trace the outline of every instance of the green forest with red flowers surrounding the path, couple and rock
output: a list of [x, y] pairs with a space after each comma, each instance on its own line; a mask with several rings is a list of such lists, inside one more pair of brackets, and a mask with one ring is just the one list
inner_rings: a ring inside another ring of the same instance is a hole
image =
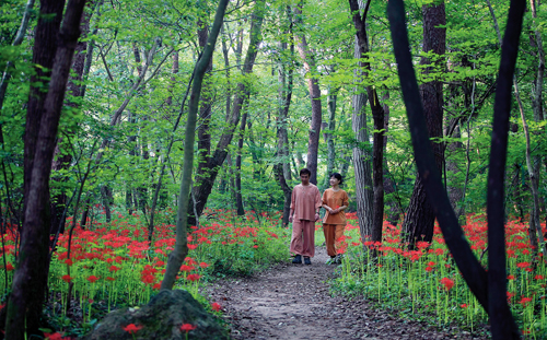
[[290, 260], [306, 167], [350, 198], [333, 292], [545, 339], [546, 23], [540, 0], [3, 0], [1, 337], [162, 291], [222, 318], [206, 286]]

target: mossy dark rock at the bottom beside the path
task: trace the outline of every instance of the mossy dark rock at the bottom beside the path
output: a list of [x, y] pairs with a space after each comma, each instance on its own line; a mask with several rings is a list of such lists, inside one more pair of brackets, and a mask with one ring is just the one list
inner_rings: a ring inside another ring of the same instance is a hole
[[[141, 327], [132, 335], [124, 327], [135, 324]], [[109, 313], [84, 339], [186, 339], [183, 324], [196, 326], [187, 339], [229, 339], [228, 332], [218, 324], [214, 316], [188, 292], [182, 290], [161, 291], [140, 308], [121, 308]]]

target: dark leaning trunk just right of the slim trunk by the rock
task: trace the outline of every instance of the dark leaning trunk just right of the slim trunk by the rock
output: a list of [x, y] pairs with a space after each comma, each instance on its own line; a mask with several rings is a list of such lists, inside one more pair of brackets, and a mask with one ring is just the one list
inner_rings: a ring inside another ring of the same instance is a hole
[[[261, 25], [265, 14], [265, 2], [257, 1], [255, 3], [255, 9], [253, 13], [253, 20], [251, 23], [251, 42], [248, 44], [247, 55], [245, 56], [245, 61], [243, 63], [243, 75], [251, 74], [253, 72], [253, 67], [255, 65], [256, 55], [258, 54], [258, 44], [261, 42]], [[203, 211], [207, 199], [211, 194], [212, 186], [214, 184], [214, 179], [219, 174], [220, 166], [224, 163], [224, 160], [228, 155], [228, 146], [232, 142], [232, 138], [234, 136], [235, 127], [240, 122], [240, 115], [247, 98], [247, 85], [245, 82], [241, 82], [237, 84], [235, 90], [235, 99], [232, 106], [231, 115], [226, 121], [228, 127], [222, 131], [222, 134], [217, 143], [213, 154], [207, 160], [207, 165], [202, 167], [201, 173], [198, 172], [196, 174], [196, 184], [193, 188], [194, 198], [196, 200], [195, 211], [197, 212], [197, 216], [194, 213], [188, 215], [188, 223], [190, 225], [196, 224], [196, 219], [199, 218], [201, 212]], [[194, 206], [193, 202], [189, 202]], [[194, 207], [189, 207], [189, 212], [194, 211]]]

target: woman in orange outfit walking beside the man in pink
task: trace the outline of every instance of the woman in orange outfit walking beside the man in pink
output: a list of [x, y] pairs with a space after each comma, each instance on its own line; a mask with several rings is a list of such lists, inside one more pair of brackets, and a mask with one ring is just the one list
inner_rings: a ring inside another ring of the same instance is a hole
[[349, 197], [346, 191], [340, 189], [342, 177], [338, 173], [330, 175], [330, 188], [323, 192], [323, 208], [327, 211], [323, 218], [323, 233], [325, 234], [325, 244], [327, 245], [327, 254], [330, 259], [327, 263], [340, 263], [341, 254], [337, 254], [340, 248], [340, 238], [344, 236], [346, 228], [346, 213], [344, 210], [348, 208]]

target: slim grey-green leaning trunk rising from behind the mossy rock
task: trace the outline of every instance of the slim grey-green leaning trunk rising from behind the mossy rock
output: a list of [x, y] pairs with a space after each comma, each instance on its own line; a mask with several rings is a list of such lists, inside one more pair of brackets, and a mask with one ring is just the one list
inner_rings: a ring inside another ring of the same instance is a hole
[[210, 58], [214, 50], [217, 37], [219, 36], [220, 27], [224, 17], [224, 12], [228, 5], [228, 0], [220, 0], [214, 22], [211, 26], [207, 46], [196, 63], [194, 70], [194, 84], [191, 86], [190, 101], [188, 103], [188, 118], [186, 121], [186, 132], [184, 142], [184, 165], [183, 165], [183, 179], [181, 181], [181, 192], [178, 198], [178, 211], [176, 219], [176, 243], [175, 249], [170, 254], [167, 260], [167, 268], [161, 284], [161, 290], [172, 290], [175, 284], [176, 275], [181, 270], [181, 265], [188, 254], [187, 246], [187, 219], [188, 207], [191, 186], [191, 172], [194, 168], [194, 140], [196, 130], [196, 118], [199, 106], [199, 96], [201, 92], [201, 84], [206, 74]]

